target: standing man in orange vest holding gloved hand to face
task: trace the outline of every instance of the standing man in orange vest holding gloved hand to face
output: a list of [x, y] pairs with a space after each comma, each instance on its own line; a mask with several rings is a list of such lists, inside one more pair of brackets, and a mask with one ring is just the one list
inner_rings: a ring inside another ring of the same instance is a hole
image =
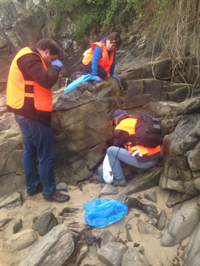
[[[13, 59], [7, 84], [7, 111], [15, 114], [23, 134], [23, 167], [27, 194], [42, 192], [45, 200], [66, 202], [55, 185], [53, 132], [51, 127], [52, 92], [63, 67], [59, 45], [42, 39], [36, 47], [21, 49]], [[47, 70], [47, 65], [51, 69]], [[36, 167], [39, 158], [39, 173]]]

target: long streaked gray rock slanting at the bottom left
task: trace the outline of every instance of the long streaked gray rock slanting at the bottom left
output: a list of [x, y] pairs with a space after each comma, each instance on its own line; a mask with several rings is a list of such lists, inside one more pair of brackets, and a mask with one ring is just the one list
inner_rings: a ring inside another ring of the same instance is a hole
[[65, 224], [61, 224], [42, 237], [19, 266], [62, 266], [73, 251], [72, 233]]

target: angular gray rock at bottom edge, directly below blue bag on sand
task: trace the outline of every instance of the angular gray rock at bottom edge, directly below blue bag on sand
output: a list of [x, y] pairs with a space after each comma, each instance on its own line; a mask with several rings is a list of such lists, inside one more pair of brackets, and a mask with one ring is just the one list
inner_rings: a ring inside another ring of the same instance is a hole
[[98, 258], [107, 266], [119, 266], [121, 265], [121, 259], [123, 253], [127, 250], [127, 247], [122, 243], [109, 242], [105, 246], [101, 247], [97, 254]]

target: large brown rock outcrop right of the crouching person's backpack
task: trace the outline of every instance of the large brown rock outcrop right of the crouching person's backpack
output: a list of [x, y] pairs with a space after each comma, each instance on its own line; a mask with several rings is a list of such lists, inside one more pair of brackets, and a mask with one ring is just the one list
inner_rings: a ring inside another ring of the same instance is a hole
[[189, 196], [200, 191], [200, 98], [176, 107], [175, 131], [163, 142], [164, 166], [159, 185]]

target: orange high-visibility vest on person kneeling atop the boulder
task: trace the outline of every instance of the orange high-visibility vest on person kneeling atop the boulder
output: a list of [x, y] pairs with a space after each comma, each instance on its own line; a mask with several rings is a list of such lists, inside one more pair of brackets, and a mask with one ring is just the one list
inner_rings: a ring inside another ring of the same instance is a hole
[[[102, 58], [99, 59], [98, 65], [103, 67], [103, 69], [105, 69], [105, 71], [107, 72], [107, 76], [108, 76], [108, 74], [110, 73], [110, 68], [111, 68], [111, 66], [113, 64], [115, 50], [117, 48], [114, 48], [112, 50], [110, 58], [109, 58], [108, 50], [107, 50], [105, 44], [103, 42], [94, 42], [91, 45], [91, 48], [89, 49], [87, 54], [83, 58], [83, 64], [84, 65], [88, 65], [89, 62], [92, 61], [93, 54], [94, 54], [93, 48], [95, 47], [95, 45], [98, 45], [101, 48], [101, 50], [102, 50]], [[107, 76], [106, 76], [106, 78], [107, 78]]]

